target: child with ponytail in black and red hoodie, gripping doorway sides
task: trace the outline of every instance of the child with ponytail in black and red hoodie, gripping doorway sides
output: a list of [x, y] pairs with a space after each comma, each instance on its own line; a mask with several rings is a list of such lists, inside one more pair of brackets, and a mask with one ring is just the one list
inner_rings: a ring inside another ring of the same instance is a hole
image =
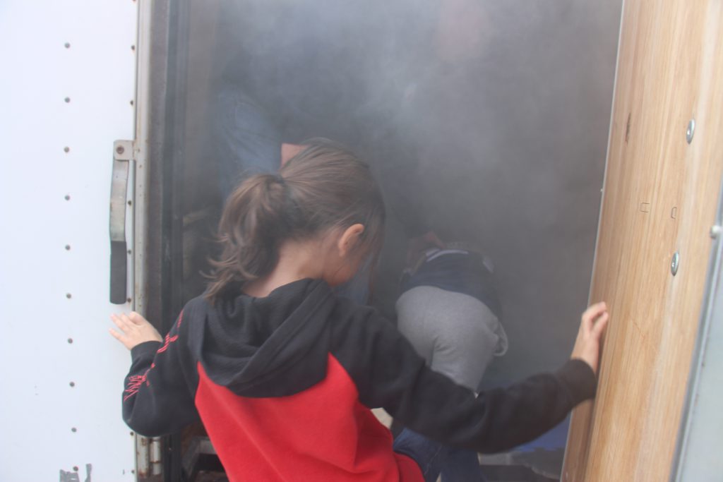
[[[139, 314], [114, 317], [132, 355], [132, 429], [160, 436], [200, 418], [231, 481], [421, 482], [436, 480], [441, 444], [509, 449], [594, 396], [604, 304], [583, 314], [556, 373], [476, 396], [427, 368], [377, 311], [335, 296], [376, 259], [384, 205], [365, 163], [324, 139], [304, 144], [228, 198], [208, 290], [166, 337]], [[394, 441], [377, 407], [411, 430]]]

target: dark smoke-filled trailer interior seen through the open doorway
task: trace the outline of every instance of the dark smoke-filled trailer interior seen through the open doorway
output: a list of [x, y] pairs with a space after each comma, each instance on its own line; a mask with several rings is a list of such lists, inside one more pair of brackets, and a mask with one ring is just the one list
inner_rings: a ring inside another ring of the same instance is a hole
[[[390, 321], [408, 240], [433, 229], [494, 262], [509, 350], [484, 387], [568, 358], [588, 301], [620, 1], [180, 0], [153, 15], [147, 316], [159, 330], [204, 289], [232, 181], [223, 162], [247, 127], [290, 144], [328, 137], [372, 166], [388, 225], [370, 302]], [[213, 468], [202, 435], [164, 441], [166, 480]], [[565, 436], [490, 458], [489, 479], [557, 478]]]

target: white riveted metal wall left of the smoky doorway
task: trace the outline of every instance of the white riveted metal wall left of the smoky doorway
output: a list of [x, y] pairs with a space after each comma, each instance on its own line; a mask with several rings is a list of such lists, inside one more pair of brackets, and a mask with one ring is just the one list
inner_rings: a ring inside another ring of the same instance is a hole
[[113, 141], [133, 134], [136, 12], [0, 1], [0, 481], [134, 480], [108, 199]]

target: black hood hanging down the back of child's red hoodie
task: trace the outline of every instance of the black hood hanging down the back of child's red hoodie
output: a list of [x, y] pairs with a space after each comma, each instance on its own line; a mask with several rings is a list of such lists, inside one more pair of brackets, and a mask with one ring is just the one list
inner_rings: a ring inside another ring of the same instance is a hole
[[[211, 306], [197, 298], [191, 344], [213, 382], [244, 397], [294, 395], [326, 376], [335, 296], [299, 280], [265, 298], [240, 295]], [[199, 321], [201, 321], [199, 319]]]

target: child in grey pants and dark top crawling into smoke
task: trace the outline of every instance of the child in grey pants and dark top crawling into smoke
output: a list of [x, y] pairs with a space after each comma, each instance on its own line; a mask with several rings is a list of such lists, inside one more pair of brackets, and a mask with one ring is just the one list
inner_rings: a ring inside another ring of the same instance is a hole
[[[432, 232], [433, 233], [433, 232]], [[508, 348], [492, 259], [466, 242], [410, 242], [397, 328], [432, 370], [476, 391]], [[474, 450], [445, 447], [442, 482], [484, 481]]]

